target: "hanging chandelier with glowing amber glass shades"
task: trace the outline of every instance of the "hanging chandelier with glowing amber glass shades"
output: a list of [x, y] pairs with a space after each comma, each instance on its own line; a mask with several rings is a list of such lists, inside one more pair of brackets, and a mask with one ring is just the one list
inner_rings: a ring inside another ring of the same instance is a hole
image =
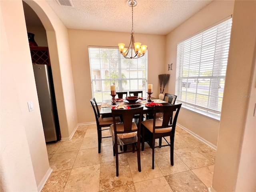
[[[120, 53], [124, 56], [124, 58], [126, 59], [136, 59], [136, 58], [140, 58], [142, 56], [144, 56], [147, 46], [146, 45], [142, 45], [139, 42], [134, 42], [134, 30], [133, 30], [133, 7], [135, 7], [137, 5], [136, 0], [128, 0], [126, 2], [126, 4], [128, 6], [132, 7], [132, 30], [131, 30], [131, 40], [130, 40], [130, 44], [128, 46], [128, 48], [124, 47], [124, 43], [119, 43], [118, 47], [120, 50]], [[130, 56], [128, 56], [128, 53], [131, 49], [131, 54]], [[133, 52], [134, 50], [134, 52]], [[132, 56], [132, 54], [134, 54], [134, 56]]]

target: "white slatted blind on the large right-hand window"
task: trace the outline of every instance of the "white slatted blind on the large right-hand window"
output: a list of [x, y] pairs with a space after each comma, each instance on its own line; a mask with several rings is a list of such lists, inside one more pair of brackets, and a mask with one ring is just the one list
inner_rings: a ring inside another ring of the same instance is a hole
[[177, 101], [220, 116], [231, 25], [230, 18], [178, 44]]

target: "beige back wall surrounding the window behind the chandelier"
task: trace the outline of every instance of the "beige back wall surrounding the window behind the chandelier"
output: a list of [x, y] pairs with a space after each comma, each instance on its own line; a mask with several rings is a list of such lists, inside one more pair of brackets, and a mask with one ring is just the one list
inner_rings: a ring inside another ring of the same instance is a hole
[[[95, 122], [94, 112], [90, 104], [92, 89], [88, 46], [118, 46], [120, 42], [128, 44], [130, 33], [69, 29], [68, 38], [78, 122]], [[148, 83], [153, 84], [154, 93], [152, 96], [158, 97], [160, 93], [158, 74], [168, 70], [168, 66], [164, 66], [165, 36], [135, 33], [135, 38], [148, 46]]]

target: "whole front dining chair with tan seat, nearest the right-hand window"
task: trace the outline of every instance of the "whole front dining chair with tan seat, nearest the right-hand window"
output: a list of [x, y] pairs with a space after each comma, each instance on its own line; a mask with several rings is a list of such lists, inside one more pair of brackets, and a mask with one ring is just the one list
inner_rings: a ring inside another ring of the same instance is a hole
[[[142, 151], [144, 150], [144, 142], [146, 141], [152, 148], [152, 169], [154, 169], [154, 149], [164, 146], [170, 146], [171, 165], [174, 165], [174, 134], [180, 107], [181, 104], [154, 106], [154, 118], [142, 121], [141, 123]], [[163, 113], [162, 119], [156, 118], [156, 114], [158, 113]], [[165, 137], [170, 137], [170, 142], [168, 142]], [[167, 144], [162, 145], [159, 142], [159, 145], [155, 146], [155, 140], [157, 138], [164, 138]]]

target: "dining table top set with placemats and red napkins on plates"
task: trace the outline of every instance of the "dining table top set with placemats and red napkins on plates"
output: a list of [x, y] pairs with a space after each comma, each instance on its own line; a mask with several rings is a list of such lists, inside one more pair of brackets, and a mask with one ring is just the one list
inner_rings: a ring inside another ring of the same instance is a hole
[[[161, 103], [162, 105], [170, 105], [168, 102], [160, 100], [160, 99], [155, 99], [152, 98], [152, 102], [154, 103]], [[129, 102], [116, 102], [116, 105], [112, 105], [111, 100], [104, 100], [100, 106], [100, 114], [104, 117], [110, 117], [112, 116], [111, 114], [111, 109], [114, 106], [130, 106], [130, 108], [137, 108], [143, 106], [143, 114], [148, 114], [154, 110], [154, 107], [147, 107], [145, 104], [148, 103], [147, 100], [141, 100], [140, 102], [136, 103], [129, 103]]]

